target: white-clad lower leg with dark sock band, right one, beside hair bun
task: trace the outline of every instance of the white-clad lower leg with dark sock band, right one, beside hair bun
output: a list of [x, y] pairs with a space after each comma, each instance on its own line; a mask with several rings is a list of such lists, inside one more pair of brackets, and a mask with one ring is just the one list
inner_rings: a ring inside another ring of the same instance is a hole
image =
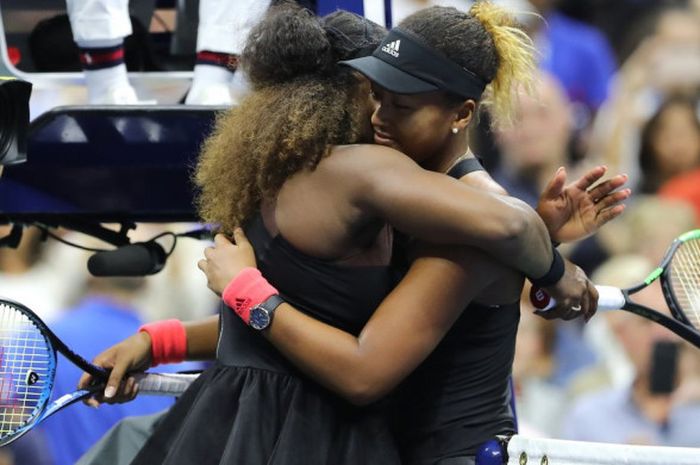
[[[231, 105], [231, 85], [238, 55], [250, 30], [263, 17], [270, 0], [200, 0], [197, 30], [197, 62], [185, 103], [190, 105]], [[234, 95], [245, 90], [238, 76]]]

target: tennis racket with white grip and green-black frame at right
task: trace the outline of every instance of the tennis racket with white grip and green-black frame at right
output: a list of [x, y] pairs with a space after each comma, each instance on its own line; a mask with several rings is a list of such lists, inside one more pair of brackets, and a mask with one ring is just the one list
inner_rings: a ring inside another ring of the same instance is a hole
[[[638, 304], [631, 295], [660, 280], [664, 299], [673, 318]], [[670, 329], [686, 341], [700, 348], [700, 229], [688, 231], [677, 237], [669, 246], [661, 264], [647, 276], [644, 282], [619, 289], [612, 286], [596, 286], [598, 310], [627, 310]], [[532, 288], [532, 304], [542, 311], [556, 305], [554, 299], [541, 289]]]

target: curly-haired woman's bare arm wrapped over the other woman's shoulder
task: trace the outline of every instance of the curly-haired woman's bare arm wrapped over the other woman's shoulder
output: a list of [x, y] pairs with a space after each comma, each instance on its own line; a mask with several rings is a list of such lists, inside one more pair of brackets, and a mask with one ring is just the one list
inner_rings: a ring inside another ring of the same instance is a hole
[[344, 147], [330, 159], [324, 169], [341, 196], [411, 236], [474, 246], [535, 278], [552, 263], [545, 224], [516, 198], [426, 171], [387, 147]]

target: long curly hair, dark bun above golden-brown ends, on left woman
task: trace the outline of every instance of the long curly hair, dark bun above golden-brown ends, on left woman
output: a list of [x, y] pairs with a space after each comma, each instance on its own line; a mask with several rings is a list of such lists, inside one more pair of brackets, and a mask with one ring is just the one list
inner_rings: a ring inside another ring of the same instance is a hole
[[365, 135], [364, 81], [336, 61], [356, 52], [353, 43], [359, 49], [374, 40], [376, 47], [383, 34], [368, 34], [376, 28], [356, 15], [334, 18], [328, 21], [343, 33], [342, 44], [339, 34], [293, 4], [270, 8], [251, 31], [241, 64], [254, 91], [217, 118], [196, 167], [203, 221], [225, 232], [244, 225], [290, 176]]

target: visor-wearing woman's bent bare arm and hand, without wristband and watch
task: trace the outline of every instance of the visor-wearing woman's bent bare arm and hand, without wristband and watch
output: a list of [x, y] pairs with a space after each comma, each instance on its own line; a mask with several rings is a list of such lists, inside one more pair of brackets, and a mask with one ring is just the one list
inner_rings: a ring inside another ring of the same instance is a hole
[[[222, 235], [198, 266], [221, 292], [230, 273], [255, 265], [241, 231], [236, 245]], [[508, 271], [515, 276], [515, 272]], [[277, 308], [262, 334], [292, 363], [348, 401], [373, 402], [411, 373], [435, 348], [467, 304], [504, 267], [473, 248], [426, 246], [399, 285], [384, 299], [359, 336], [315, 320], [293, 306]], [[516, 278], [517, 279], [517, 278]], [[511, 291], [519, 297], [518, 281]], [[505, 290], [504, 295], [505, 295]]]

